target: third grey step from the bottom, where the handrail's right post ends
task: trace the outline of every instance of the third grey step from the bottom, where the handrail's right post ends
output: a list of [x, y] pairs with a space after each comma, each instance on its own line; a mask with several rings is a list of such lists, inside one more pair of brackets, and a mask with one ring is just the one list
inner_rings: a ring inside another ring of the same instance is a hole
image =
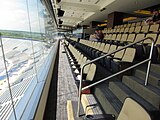
[[134, 76], [123, 76], [122, 82], [154, 107], [159, 109], [160, 91], [158, 88], [153, 87], [150, 84], [144, 86], [143, 81]]

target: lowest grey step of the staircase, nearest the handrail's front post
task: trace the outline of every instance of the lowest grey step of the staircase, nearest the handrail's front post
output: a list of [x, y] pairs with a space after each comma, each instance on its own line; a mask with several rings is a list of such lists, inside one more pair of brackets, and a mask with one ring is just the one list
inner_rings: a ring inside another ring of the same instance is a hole
[[122, 102], [112, 93], [106, 84], [96, 86], [94, 95], [106, 114], [118, 116], [122, 107]]

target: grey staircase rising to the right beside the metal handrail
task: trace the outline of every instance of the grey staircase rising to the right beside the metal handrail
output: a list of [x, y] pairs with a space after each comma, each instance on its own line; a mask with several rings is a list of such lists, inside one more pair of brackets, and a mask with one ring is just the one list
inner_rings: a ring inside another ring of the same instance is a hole
[[138, 101], [151, 114], [153, 119], [160, 116], [160, 65], [151, 64], [148, 85], [144, 85], [146, 65], [134, 69], [132, 76], [123, 76], [122, 80], [102, 83], [95, 86], [94, 95], [105, 113], [119, 114], [127, 97]]

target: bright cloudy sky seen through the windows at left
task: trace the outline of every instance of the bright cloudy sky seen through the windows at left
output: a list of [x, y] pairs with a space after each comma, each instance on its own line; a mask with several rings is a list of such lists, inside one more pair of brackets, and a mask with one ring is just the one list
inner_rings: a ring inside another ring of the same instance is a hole
[[[28, 0], [32, 32], [40, 32], [37, 0]], [[40, 17], [41, 31], [44, 31]], [[0, 0], [0, 29], [29, 31], [26, 0]]]

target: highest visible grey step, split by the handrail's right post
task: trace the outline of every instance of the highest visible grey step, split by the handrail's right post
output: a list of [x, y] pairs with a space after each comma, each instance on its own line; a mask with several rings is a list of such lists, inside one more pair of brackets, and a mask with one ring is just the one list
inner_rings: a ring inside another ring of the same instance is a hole
[[[145, 81], [146, 69], [143, 69], [142, 67], [139, 69], [136, 69], [134, 72], [134, 76]], [[148, 83], [150, 83], [155, 87], [160, 88], [160, 75], [150, 71]]]

